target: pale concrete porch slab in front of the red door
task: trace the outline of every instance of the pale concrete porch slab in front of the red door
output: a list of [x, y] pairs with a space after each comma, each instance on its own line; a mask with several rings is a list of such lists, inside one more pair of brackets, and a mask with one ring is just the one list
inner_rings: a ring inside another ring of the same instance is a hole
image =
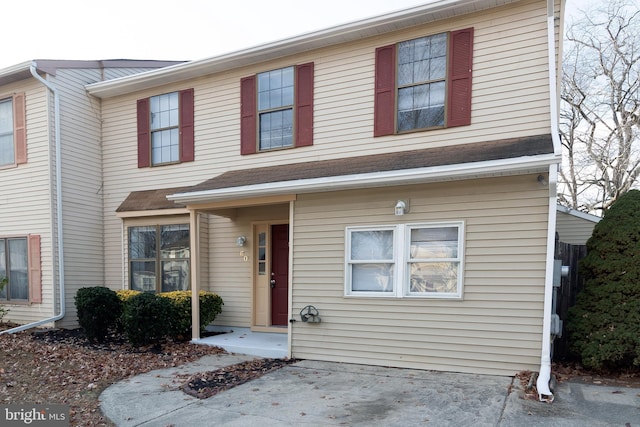
[[220, 347], [229, 353], [265, 358], [281, 359], [289, 354], [288, 335], [284, 333], [253, 332], [250, 328], [227, 326], [208, 327], [207, 330], [219, 333], [192, 342]]

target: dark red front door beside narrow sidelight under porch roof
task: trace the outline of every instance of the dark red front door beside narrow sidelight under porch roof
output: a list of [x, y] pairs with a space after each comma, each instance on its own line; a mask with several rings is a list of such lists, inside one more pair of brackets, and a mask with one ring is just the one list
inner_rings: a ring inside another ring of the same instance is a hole
[[271, 226], [271, 324], [286, 326], [289, 305], [289, 225]]

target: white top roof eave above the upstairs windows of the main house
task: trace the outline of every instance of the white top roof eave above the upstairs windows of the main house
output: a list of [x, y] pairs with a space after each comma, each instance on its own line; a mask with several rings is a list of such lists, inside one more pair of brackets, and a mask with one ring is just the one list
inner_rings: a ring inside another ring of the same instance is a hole
[[298, 54], [320, 47], [372, 37], [516, 1], [519, 0], [436, 0], [425, 5], [320, 31], [313, 31], [236, 52], [106, 82], [93, 83], [87, 86], [87, 90], [96, 97], [109, 98], [206, 74], [252, 65], [282, 56]]

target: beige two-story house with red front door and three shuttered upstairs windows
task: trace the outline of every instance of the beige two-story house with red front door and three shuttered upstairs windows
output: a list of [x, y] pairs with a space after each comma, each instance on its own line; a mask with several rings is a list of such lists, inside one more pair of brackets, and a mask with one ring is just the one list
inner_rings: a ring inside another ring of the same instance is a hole
[[562, 3], [440, 0], [88, 85], [105, 282], [217, 292], [216, 324], [293, 357], [548, 380]]

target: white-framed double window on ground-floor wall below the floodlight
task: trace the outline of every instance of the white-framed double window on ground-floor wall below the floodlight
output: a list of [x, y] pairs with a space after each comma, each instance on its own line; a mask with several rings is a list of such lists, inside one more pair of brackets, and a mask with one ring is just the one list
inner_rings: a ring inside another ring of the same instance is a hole
[[348, 227], [345, 294], [462, 297], [463, 223]]

